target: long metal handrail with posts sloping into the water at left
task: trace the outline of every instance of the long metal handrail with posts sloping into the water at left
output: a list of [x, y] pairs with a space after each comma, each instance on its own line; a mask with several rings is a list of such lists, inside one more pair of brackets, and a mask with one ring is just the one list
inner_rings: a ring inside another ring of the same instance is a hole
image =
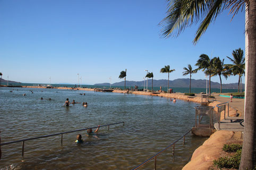
[[[106, 125], [103, 125], [103, 126], [100, 126], [100, 127], [106, 127], [106, 126], [108, 126], [108, 129], [109, 129], [109, 126], [110, 126], [110, 125], [120, 124], [120, 123], [123, 123], [123, 126], [124, 126], [124, 122], [118, 122], [118, 123], [106, 124]], [[94, 128], [98, 128], [98, 127], [77, 129], [77, 130], [72, 130], [72, 131], [67, 131], [67, 132], [55, 133], [55, 134], [52, 134], [52, 135], [45, 135], [45, 136], [39, 136], [39, 137], [34, 137], [34, 138], [15, 140], [15, 141], [11, 141], [11, 142], [5, 142], [5, 143], [3, 143], [3, 144], [0, 144], [0, 146], [10, 145], [10, 144], [15, 144], [15, 143], [18, 143], [18, 142], [22, 142], [22, 157], [23, 157], [23, 155], [24, 155], [24, 142], [25, 142], [25, 141], [61, 135], [61, 144], [62, 144], [62, 141], [63, 141], [63, 134], [65, 134], [65, 133], [72, 133], [72, 132], [78, 132], [78, 131], [87, 130], [87, 129], [94, 129]]]

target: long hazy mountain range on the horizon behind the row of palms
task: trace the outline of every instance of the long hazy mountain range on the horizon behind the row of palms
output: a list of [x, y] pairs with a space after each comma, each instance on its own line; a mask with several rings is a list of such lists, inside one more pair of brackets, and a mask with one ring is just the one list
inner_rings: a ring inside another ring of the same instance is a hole
[[[150, 87], [152, 80], [148, 80], [148, 86]], [[167, 87], [168, 80], [167, 79], [159, 79], [153, 80], [154, 87]], [[178, 78], [175, 80], [169, 80], [169, 87], [189, 87], [190, 79], [189, 78]], [[208, 82], [209, 84], [209, 82]], [[95, 85], [101, 86], [109, 86], [109, 83], [100, 83]], [[113, 86], [124, 86], [124, 81], [113, 83]], [[136, 81], [126, 81], [126, 86], [144, 86], [144, 80], [136, 82]], [[238, 83], [229, 83], [229, 84], [222, 84], [222, 88], [237, 88]], [[206, 80], [205, 79], [191, 79], [191, 87], [195, 88], [204, 88], [206, 87]], [[211, 88], [220, 88], [220, 84], [217, 82], [211, 81]], [[244, 84], [243, 84], [244, 88]]]

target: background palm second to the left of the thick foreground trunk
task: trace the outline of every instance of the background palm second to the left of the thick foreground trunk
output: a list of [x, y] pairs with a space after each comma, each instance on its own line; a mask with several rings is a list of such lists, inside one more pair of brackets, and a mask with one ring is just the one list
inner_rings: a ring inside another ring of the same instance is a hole
[[224, 67], [224, 59], [221, 61], [219, 57], [212, 58], [212, 62], [214, 65], [214, 73], [212, 76], [219, 75], [220, 80], [220, 93], [222, 93], [222, 81], [221, 81], [221, 75], [223, 75], [226, 79], [228, 76], [231, 75], [231, 73]]

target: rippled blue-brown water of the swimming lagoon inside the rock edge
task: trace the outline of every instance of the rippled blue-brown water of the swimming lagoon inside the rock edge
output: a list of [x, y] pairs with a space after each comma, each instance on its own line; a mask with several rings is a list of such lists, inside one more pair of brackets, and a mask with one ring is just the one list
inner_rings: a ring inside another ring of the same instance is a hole
[[[18, 91], [16, 91], [18, 89]], [[193, 102], [165, 97], [84, 91], [0, 88], [0, 127], [3, 142], [75, 129], [97, 127], [99, 135], [87, 137], [86, 131], [2, 146], [0, 168], [7, 169], [132, 169], [155, 155], [194, 126]], [[30, 90], [33, 93], [29, 92]], [[57, 93], [56, 93], [57, 92]], [[26, 93], [25, 96], [22, 94]], [[43, 100], [41, 100], [43, 97]], [[51, 100], [49, 100], [49, 97]], [[88, 102], [63, 106], [70, 101]], [[94, 129], [95, 130], [95, 129]], [[75, 144], [76, 135], [86, 140]], [[172, 149], [157, 157], [161, 169], [181, 169], [195, 148], [206, 138], [186, 136]], [[152, 169], [153, 161], [142, 169]]]

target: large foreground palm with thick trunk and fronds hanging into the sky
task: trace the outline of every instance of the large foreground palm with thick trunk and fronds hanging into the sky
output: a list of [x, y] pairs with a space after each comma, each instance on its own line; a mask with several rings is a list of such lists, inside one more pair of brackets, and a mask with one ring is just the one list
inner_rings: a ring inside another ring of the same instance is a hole
[[[197, 43], [201, 35], [206, 32], [212, 21], [223, 10], [230, 9], [229, 13], [234, 15], [246, 6], [246, 38], [248, 38], [248, 66], [246, 66], [246, 101], [245, 101], [245, 126], [244, 141], [241, 156], [240, 169], [253, 169], [256, 166], [256, 133], [253, 129], [256, 127], [256, 1], [255, 0], [219, 0], [219, 1], [185, 1], [185, 0], [166, 0], [167, 16], [159, 23], [163, 26], [162, 37], [179, 35], [185, 28], [193, 23], [200, 23], [197, 34], [193, 40]], [[242, 11], [242, 10], [241, 10]], [[246, 57], [247, 58], [247, 57]]]

